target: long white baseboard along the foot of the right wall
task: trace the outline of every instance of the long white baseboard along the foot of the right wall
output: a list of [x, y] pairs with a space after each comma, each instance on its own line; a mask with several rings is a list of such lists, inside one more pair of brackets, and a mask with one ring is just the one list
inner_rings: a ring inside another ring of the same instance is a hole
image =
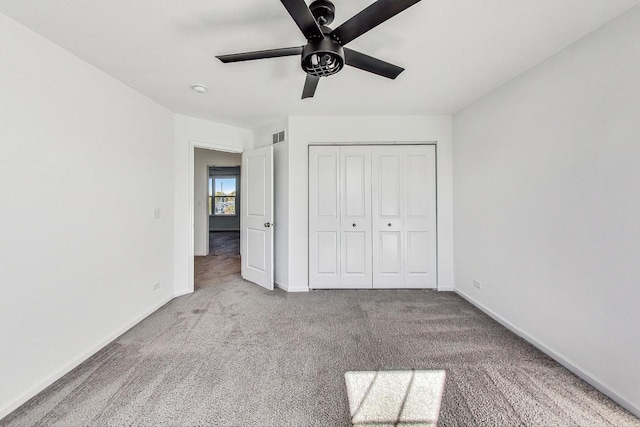
[[624, 397], [620, 396], [617, 392], [615, 392], [604, 381], [600, 380], [595, 375], [590, 374], [589, 372], [587, 372], [586, 370], [584, 370], [583, 368], [581, 368], [580, 366], [575, 364], [573, 361], [571, 361], [569, 358], [565, 357], [564, 355], [562, 355], [562, 354], [552, 350], [551, 348], [547, 347], [545, 344], [543, 344], [542, 342], [537, 340], [535, 337], [529, 335], [527, 332], [525, 332], [522, 329], [518, 328], [517, 326], [515, 326], [514, 324], [509, 322], [507, 319], [505, 319], [502, 316], [500, 316], [499, 314], [493, 312], [492, 310], [490, 310], [489, 308], [487, 308], [483, 304], [479, 303], [478, 301], [476, 301], [475, 299], [473, 299], [472, 297], [470, 297], [466, 293], [462, 292], [461, 290], [455, 289], [455, 292], [458, 295], [460, 295], [462, 298], [464, 298], [467, 301], [469, 301], [471, 304], [473, 304], [476, 307], [478, 307], [480, 310], [482, 310], [484, 313], [486, 313], [493, 320], [495, 320], [496, 322], [500, 323], [502, 326], [504, 326], [505, 328], [509, 329], [514, 334], [516, 334], [519, 337], [523, 338], [524, 340], [526, 340], [527, 342], [532, 344], [534, 347], [538, 348], [538, 350], [542, 351], [547, 356], [551, 357], [556, 362], [560, 363], [562, 366], [564, 366], [565, 368], [567, 368], [568, 370], [570, 370], [571, 372], [573, 372], [574, 374], [576, 374], [577, 376], [579, 376], [580, 378], [585, 380], [587, 383], [591, 384], [594, 388], [596, 388], [597, 390], [601, 391], [603, 394], [605, 394], [608, 397], [610, 397], [611, 400], [616, 402], [618, 405], [622, 406], [627, 411], [631, 412], [636, 417], [640, 418], [640, 407], [634, 405], [633, 403], [631, 403], [630, 401], [628, 401]]

